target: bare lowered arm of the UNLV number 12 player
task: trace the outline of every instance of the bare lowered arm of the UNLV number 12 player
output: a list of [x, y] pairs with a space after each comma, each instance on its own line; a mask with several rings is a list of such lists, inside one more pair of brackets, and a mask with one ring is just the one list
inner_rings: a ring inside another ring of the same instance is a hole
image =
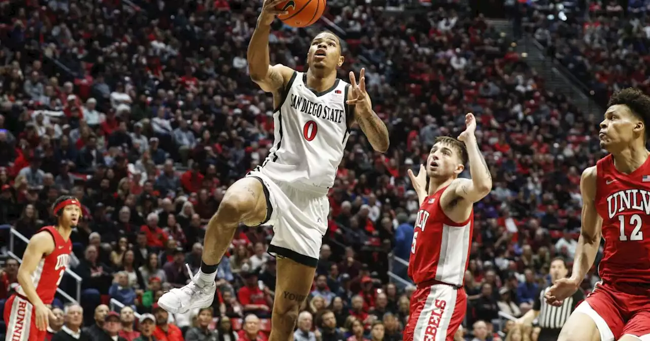
[[571, 277], [558, 279], [545, 295], [552, 305], [561, 305], [562, 300], [573, 295], [578, 290], [582, 279], [587, 274], [601, 245], [603, 218], [596, 211], [596, 167], [592, 166], [582, 172], [580, 178], [580, 193], [582, 194], [582, 227], [578, 247], [573, 259]]

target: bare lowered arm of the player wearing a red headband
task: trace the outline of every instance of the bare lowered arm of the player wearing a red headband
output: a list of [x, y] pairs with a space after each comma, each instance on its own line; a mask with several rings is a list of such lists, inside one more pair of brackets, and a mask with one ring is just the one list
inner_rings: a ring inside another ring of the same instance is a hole
[[[36, 309], [36, 327], [40, 330], [47, 329], [47, 323], [51, 310], [45, 307], [43, 301], [36, 293], [36, 287], [32, 281], [32, 273], [36, 271], [38, 264], [47, 255], [54, 251], [54, 239], [48, 232], [34, 234], [27, 244], [27, 249], [23, 254], [23, 262], [18, 268], [18, 284], [25, 292], [25, 296]], [[57, 283], [51, 283], [56, 285]]]

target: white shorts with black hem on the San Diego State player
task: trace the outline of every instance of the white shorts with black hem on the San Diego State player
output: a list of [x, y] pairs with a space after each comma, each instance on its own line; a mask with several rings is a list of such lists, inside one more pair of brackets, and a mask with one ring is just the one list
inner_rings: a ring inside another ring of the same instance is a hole
[[246, 177], [255, 177], [265, 186], [266, 206], [270, 209], [262, 225], [272, 225], [274, 232], [268, 253], [315, 268], [328, 229], [328, 197], [273, 181], [257, 170]]

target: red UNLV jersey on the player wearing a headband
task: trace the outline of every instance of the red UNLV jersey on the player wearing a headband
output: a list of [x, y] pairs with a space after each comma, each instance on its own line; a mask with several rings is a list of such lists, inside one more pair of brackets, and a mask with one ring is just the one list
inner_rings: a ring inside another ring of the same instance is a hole
[[[70, 262], [70, 252], [72, 252], [72, 242], [70, 240], [63, 240], [59, 231], [54, 226], [45, 226], [38, 232], [47, 231], [54, 238], [54, 250], [41, 259], [38, 267], [32, 273], [31, 279], [36, 288], [36, 294], [45, 304], [52, 303], [57, 288], [63, 274], [66, 272], [68, 262]], [[23, 288], [18, 286], [16, 292], [25, 296]]]

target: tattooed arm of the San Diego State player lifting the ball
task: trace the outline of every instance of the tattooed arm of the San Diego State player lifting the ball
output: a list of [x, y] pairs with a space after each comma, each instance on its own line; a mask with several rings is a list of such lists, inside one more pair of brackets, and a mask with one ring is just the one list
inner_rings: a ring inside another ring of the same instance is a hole
[[248, 72], [253, 82], [257, 83], [265, 92], [276, 92], [291, 79], [293, 69], [277, 64], [270, 66], [270, 57], [268, 55], [268, 34], [271, 31], [271, 23], [278, 14], [283, 14], [281, 10], [276, 10], [275, 6], [284, 0], [264, 0], [262, 12], [257, 18], [257, 27], [253, 31], [248, 44], [246, 60], [248, 60]]

